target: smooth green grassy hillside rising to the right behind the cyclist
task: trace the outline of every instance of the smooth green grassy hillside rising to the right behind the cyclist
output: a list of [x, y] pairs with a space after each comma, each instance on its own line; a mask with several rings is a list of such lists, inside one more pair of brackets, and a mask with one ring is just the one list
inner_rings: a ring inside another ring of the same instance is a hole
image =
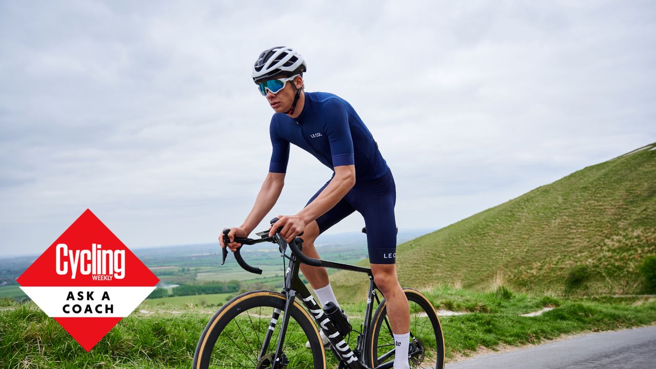
[[[656, 143], [405, 242], [397, 265], [403, 286], [639, 293], [637, 268], [654, 254]], [[567, 288], [577, 267], [588, 276]], [[339, 272], [331, 281], [342, 299], [366, 293], [361, 274]]]

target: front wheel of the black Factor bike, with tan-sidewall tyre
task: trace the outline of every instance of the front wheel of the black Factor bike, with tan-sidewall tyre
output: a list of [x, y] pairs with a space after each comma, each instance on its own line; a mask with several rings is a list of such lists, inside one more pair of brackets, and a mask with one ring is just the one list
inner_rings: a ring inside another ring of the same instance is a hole
[[[286, 297], [274, 291], [243, 293], [228, 301], [209, 320], [194, 353], [194, 369], [270, 367], [276, 352]], [[276, 328], [266, 349], [258, 358], [264, 335], [270, 330], [272, 313], [279, 309]], [[310, 349], [305, 343], [310, 341]], [[325, 351], [310, 315], [297, 301], [291, 309], [283, 354], [294, 368], [326, 369]], [[269, 360], [267, 362], [266, 360]]]

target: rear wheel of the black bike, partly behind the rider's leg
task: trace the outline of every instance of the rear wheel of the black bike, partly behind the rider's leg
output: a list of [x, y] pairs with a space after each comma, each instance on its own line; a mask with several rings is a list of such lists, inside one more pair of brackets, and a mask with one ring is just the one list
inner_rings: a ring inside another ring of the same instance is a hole
[[[433, 305], [421, 292], [411, 288], [403, 288], [403, 292], [410, 304], [409, 353], [412, 355], [409, 360], [410, 367], [443, 369], [445, 347], [440, 318]], [[380, 301], [372, 318], [371, 330], [367, 334], [367, 361], [370, 368], [394, 360], [394, 336], [392, 336], [386, 306], [384, 299]], [[413, 340], [413, 337], [417, 341]], [[391, 355], [381, 356], [381, 351]]]

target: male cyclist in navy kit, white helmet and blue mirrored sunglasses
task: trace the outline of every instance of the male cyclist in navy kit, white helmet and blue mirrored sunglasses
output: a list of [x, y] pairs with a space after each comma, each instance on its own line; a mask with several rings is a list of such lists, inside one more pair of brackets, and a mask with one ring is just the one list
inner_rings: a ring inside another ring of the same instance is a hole
[[[376, 285], [387, 300], [394, 333], [394, 368], [407, 369], [410, 315], [408, 301], [396, 276], [396, 221], [394, 177], [377, 143], [354, 108], [330, 93], [306, 93], [302, 74], [307, 69], [300, 54], [289, 47], [263, 51], [253, 66], [253, 81], [276, 114], [271, 119], [273, 153], [269, 173], [255, 206], [240, 227], [230, 228], [227, 245], [235, 251], [235, 237], [248, 237], [274, 207], [283, 189], [290, 142], [333, 169], [333, 177], [295, 215], [278, 215], [270, 236], [278, 227], [290, 242], [300, 232], [303, 253], [320, 258], [314, 248], [317, 236], [354, 211], [367, 227], [369, 262]], [[219, 237], [222, 248], [222, 237]], [[325, 268], [300, 265], [319, 303], [339, 306]], [[327, 339], [325, 342], [327, 343]]]

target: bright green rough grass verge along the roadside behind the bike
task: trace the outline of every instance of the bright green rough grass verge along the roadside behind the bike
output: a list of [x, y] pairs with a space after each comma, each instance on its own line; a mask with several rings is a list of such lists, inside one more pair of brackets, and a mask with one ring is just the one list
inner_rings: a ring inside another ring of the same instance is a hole
[[[504, 287], [472, 292], [437, 286], [423, 292], [437, 309], [469, 313], [441, 317], [447, 359], [470, 355], [479, 347], [539, 343], [562, 334], [656, 322], [656, 300], [650, 297], [567, 299], [526, 295]], [[540, 316], [520, 316], [545, 306], [556, 308]], [[355, 322], [361, 322], [364, 303], [344, 308]], [[0, 300], [0, 367], [189, 368], [197, 340], [211, 315], [209, 309], [135, 313], [121, 320], [87, 353], [33, 303]]]

